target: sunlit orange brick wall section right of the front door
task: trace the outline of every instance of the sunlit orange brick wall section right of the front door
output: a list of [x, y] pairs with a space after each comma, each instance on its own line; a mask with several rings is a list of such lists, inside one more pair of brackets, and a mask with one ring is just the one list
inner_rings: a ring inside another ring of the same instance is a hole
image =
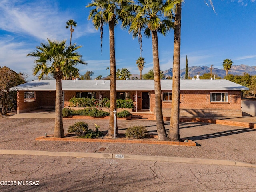
[[[163, 92], [171, 92], [162, 90]], [[227, 102], [210, 102], [210, 93], [228, 93]], [[151, 110], [155, 108], [151, 96]], [[171, 101], [163, 101], [163, 116], [170, 117]], [[180, 116], [242, 116], [241, 91], [180, 90]]]

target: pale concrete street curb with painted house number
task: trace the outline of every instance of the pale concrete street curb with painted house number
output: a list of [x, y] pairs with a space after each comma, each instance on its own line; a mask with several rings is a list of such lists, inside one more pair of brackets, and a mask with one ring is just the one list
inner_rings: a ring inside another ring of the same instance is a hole
[[162, 162], [174, 162], [174, 163], [224, 165], [224, 166], [240, 166], [240, 167], [256, 168], [256, 164], [238, 162], [234, 160], [216, 160], [216, 159], [199, 159], [199, 158], [166, 157], [166, 156], [144, 156], [144, 155], [128, 155], [128, 154], [112, 154], [112, 153], [51, 152], [51, 151], [36, 151], [36, 150], [0, 149], [0, 154], [66, 156], [66, 157], [76, 157], [76, 158], [90, 157], [90, 158], [162, 161]]

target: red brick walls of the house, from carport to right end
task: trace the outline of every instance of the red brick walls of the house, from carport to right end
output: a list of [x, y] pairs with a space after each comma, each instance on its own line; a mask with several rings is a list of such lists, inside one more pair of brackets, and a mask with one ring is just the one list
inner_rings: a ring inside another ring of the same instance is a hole
[[[76, 96], [78, 91], [64, 91], [64, 107], [69, 106], [69, 99]], [[83, 91], [84, 92], [84, 91]], [[96, 92], [96, 99], [99, 99], [100, 91], [86, 91]], [[133, 100], [133, 91], [130, 92], [130, 98]], [[137, 110], [142, 110], [142, 92], [150, 93], [150, 111], [155, 108], [155, 95], [154, 90], [151, 91], [137, 91]], [[163, 92], [171, 92], [170, 90], [162, 90]], [[210, 102], [211, 92], [227, 92], [228, 102]], [[109, 91], [103, 91], [103, 98], [110, 98]], [[136, 94], [136, 92], [135, 92]], [[55, 106], [55, 91], [36, 91], [35, 102], [24, 102], [24, 91], [17, 92], [17, 112], [25, 112], [35, 108], [54, 108]], [[172, 102], [163, 101], [162, 108], [164, 116], [169, 116]], [[241, 114], [241, 92], [240, 91], [216, 91], [216, 90], [181, 90], [180, 91], [180, 111], [182, 114], [221, 114], [224, 116], [228, 114], [236, 115]]]

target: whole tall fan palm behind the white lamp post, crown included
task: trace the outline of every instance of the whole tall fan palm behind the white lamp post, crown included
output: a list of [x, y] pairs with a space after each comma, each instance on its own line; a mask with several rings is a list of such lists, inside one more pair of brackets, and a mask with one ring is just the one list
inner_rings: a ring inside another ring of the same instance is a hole
[[[116, 56], [115, 56], [115, 34], [114, 28], [120, 19], [119, 14], [123, 6], [130, 3], [130, 0], [93, 0], [86, 7], [93, 7], [89, 13], [89, 19], [92, 20], [96, 30], [100, 28], [101, 51], [103, 26], [108, 24], [109, 29], [109, 50], [110, 50], [110, 118], [108, 134], [109, 138], [114, 137], [114, 111], [116, 109]], [[117, 122], [116, 133], [118, 134]]]

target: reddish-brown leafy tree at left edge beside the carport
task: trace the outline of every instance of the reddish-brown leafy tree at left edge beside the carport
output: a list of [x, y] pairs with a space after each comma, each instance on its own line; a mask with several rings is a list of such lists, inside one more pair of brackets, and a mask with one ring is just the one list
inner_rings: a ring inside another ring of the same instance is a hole
[[6, 66], [0, 67], [0, 114], [2, 116], [6, 116], [8, 108], [12, 108], [16, 103], [16, 91], [9, 88], [22, 83], [25, 83], [25, 80], [15, 71]]

